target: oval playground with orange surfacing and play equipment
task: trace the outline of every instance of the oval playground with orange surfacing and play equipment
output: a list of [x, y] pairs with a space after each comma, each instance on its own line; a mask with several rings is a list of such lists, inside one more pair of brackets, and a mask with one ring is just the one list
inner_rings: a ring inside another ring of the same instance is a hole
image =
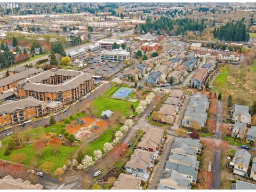
[[74, 134], [77, 140], [82, 140], [85, 138], [94, 138], [102, 133], [108, 127], [108, 124], [108, 121], [86, 116], [72, 121], [67, 125], [66, 131]]

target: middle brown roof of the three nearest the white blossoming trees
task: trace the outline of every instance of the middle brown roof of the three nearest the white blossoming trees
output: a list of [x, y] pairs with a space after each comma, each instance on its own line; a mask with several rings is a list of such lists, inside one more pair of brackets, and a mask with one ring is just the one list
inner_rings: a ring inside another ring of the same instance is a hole
[[132, 169], [147, 170], [148, 164], [153, 161], [153, 155], [153, 152], [135, 149], [130, 157], [130, 161], [127, 162], [125, 166], [131, 167]]

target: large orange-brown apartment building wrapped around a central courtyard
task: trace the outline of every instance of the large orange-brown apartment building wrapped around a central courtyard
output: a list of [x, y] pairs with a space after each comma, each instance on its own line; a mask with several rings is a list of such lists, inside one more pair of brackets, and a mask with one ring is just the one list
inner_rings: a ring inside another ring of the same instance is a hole
[[75, 101], [92, 90], [92, 75], [82, 71], [52, 68], [18, 83], [20, 98], [55, 100], [63, 104]]

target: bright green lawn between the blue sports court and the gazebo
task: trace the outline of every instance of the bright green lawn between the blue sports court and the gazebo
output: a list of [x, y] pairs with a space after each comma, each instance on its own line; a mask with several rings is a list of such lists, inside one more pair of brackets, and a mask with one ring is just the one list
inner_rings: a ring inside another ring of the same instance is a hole
[[121, 110], [126, 117], [129, 117], [132, 113], [133, 115], [136, 115], [136, 113], [132, 112], [130, 109], [131, 109], [131, 105], [133, 105], [134, 108], [137, 108], [137, 106], [139, 105], [139, 100], [137, 102], [129, 102], [124, 100], [109, 98], [110, 95], [115, 93], [120, 87], [124, 87], [124, 86], [127, 86], [127, 85], [113, 86], [106, 93], [104, 93], [99, 98], [93, 101], [93, 106], [97, 108], [97, 115], [96, 115], [97, 117], [100, 117], [103, 110], [108, 110], [108, 109], [113, 112], [116, 110]]

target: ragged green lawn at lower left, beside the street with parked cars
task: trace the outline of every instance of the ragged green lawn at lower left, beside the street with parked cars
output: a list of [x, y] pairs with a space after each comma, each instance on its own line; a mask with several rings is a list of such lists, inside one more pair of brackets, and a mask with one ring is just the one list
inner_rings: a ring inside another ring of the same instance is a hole
[[36, 153], [34, 149], [34, 145], [28, 145], [26, 143], [24, 148], [13, 150], [12, 153], [8, 156], [4, 155], [4, 151], [6, 148], [4, 147], [3, 149], [0, 150], [0, 159], [5, 159], [10, 161], [14, 154], [23, 153], [23, 154], [26, 154], [26, 159], [23, 162], [23, 164], [31, 165], [30, 159], [38, 158], [38, 167], [43, 162], [52, 162], [53, 163], [52, 172], [53, 172], [58, 167], [62, 167], [65, 164], [68, 155], [69, 154], [70, 156], [73, 155], [78, 147], [79, 146], [74, 146], [74, 147], [61, 146], [57, 151], [57, 153], [54, 154], [53, 151], [49, 148], [49, 146], [47, 146], [44, 148], [43, 156], [39, 157], [39, 155]]

